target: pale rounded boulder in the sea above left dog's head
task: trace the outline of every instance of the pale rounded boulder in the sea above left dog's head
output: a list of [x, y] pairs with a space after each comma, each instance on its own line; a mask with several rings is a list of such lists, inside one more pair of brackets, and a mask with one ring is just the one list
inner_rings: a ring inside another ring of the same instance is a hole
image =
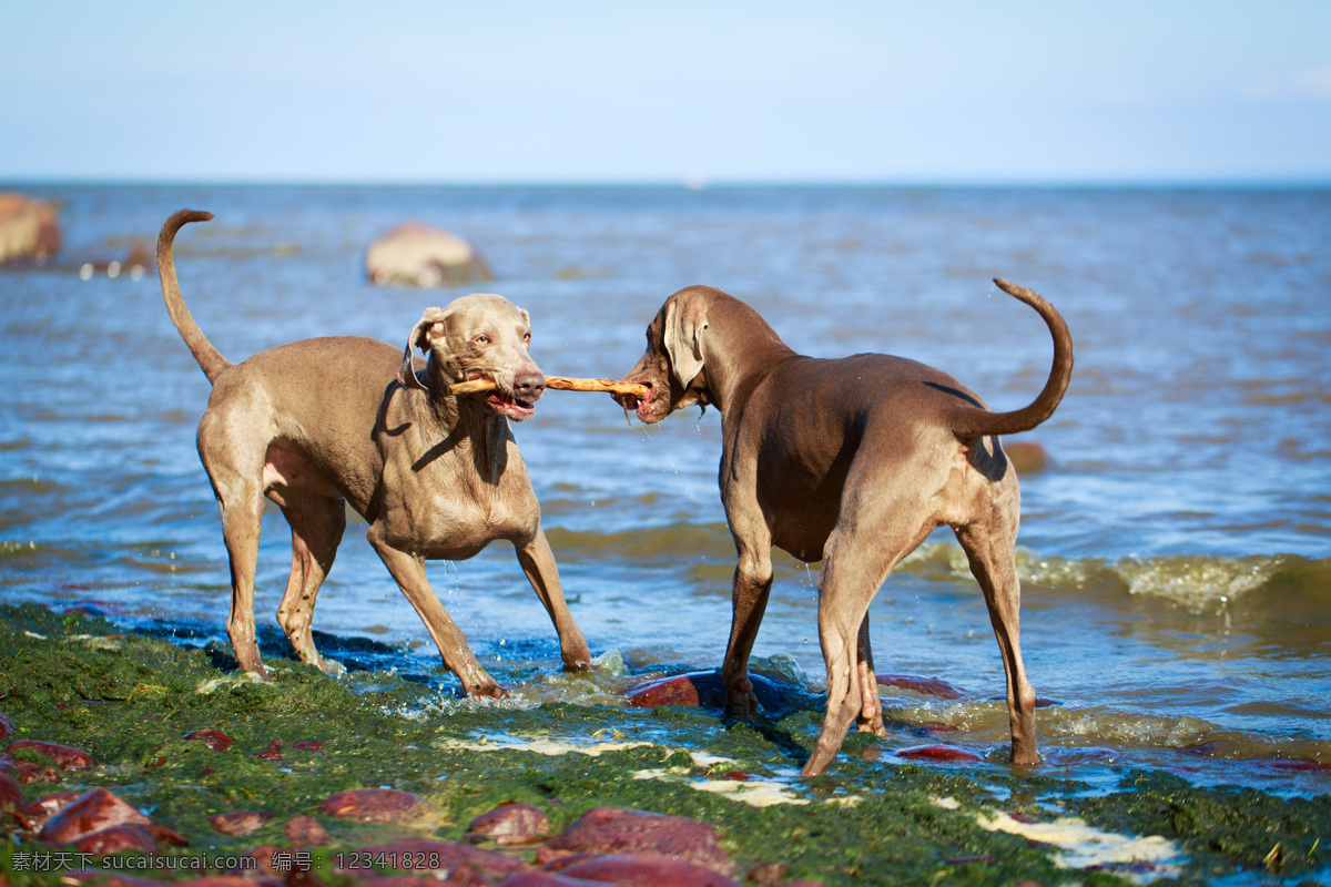
[[465, 239], [421, 222], [379, 237], [365, 253], [366, 275], [378, 285], [449, 286], [494, 275]]

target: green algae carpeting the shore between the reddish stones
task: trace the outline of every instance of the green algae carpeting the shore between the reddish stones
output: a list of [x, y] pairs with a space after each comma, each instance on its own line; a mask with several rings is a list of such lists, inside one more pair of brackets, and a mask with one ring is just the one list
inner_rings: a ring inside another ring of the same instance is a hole
[[[799, 781], [821, 723], [816, 701], [739, 723], [677, 706], [459, 702], [393, 674], [339, 681], [285, 661], [270, 662], [272, 682], [257, 684], [220, 670], [225, 657], [208, 650], [31, 605], [0, 608], [0, 710], [17, 725], [15, 738], [73, 745], [101, 762], [60, 785], [29, 785], [29, 797], [106, 786], [185, 835], [189, 847], [166, 851], [181, 856], [290, 846], [282, 824], [310, 815], [334, 842], [314, 856], [329, 863], [337, 850], [403, 834], [458, 840], [474, 817], [504, 801], [539, 807], [556, 831], [594, 806], [700, 819], [741, 871], [775, 862], [789, 879], [829, 886], [1123, 883], [1106, 871], [1061, 868], [1055, 848], [982, 828], [977, 817], [994, 811], [1075, 814], [1106, 831], [1175, 840], [1187, 858], [1155, 871], [1165, 875], [1161, 884], [1239, 872], [1294, 883], [1324, 870], [1331, 843], [1327, 797], [1198, 789], [1158, 773], [1125, 774], [1119, 791], [1097, 797], [1038, 771], [901, 763], [861, 734], [848, 737], [832, 773]], [[200, 727], [222, 730], [234, 745], [213, 751], [182, 738]], [[257, 757], [274, 742], [280, 759]], [[747, 785], [795, 803], [752, 806], [732, 791]], [[414, 827], [322, 814], [323, 799], [361, 787], [413, 791], [441, 813]], [[246, 836], [209, 826], [209, 817], [236, 810], [273, 819]], [[13, 854], [7, 844], [0, 866], [12, 868]], [[339, 883], [330, 864], [319, 876]], [[21, 871], [9, 878], [59, 880]]]

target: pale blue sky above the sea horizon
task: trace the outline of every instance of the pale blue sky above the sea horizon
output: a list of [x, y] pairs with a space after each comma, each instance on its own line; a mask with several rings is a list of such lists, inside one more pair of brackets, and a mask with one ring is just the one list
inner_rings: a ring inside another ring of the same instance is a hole
[[0, 181], [1331, 181], [1331, 1], [0, 5]]

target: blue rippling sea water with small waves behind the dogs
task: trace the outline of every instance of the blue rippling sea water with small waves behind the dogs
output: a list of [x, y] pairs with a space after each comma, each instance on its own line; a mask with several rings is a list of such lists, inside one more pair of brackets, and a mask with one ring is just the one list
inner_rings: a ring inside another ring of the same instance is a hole
[[[692, 283], [752, 305], [795, 350], [937, 366], [996, 410], [1049, 372], [1049, 298], [1075, 343], [1055, 415], [1009, 442], [1021, 479], [1022, 649], [1046, 761], [1166, 767], [1275, 791], [1331, 786], [1331, 190], [925, 188], [385, 188], [29, 185], [60, 207], [53, 263], [0, 271], [0, 600], [84, 605], [221, 644], [229, 574], [194, 428], [209, 386], [153, 269], [110, 277], [177, 209], [185, 299], [233, 360], [315, 335], [405, 343], [425, 307], [500, 293], [551, 375], [614, 376], [662, 302]], [[439, 290], [365, 279], [366, 246], [409, 219], [475, 245], [496, 279]], [[89, 265], [87, 271], [80, 269]], [[735, 549], [716, 491], [720, 422], [643, 428], [608, 395], [551, 391], [515, 434], [571, 610], [627, 676], [720, 664]], [[315, 612], [353, 668], [435, 682], [414, 610], [350, 516]], [[757, 668], [816, 692], [817, 565], [775, 552]], [[270, 508], [257, 621], [290, 536]], [[568, 698], [554, 630], [498, 543], [431, 563], [482, 662], [535, 701]], [[1006, 742], [1004, 673], [978, 586], [941, 531], [870, 609], [902, 735]], [[576, 696], [576, 693], [574, 694]], [[600, 697], [588, 701], [603, 701]]]

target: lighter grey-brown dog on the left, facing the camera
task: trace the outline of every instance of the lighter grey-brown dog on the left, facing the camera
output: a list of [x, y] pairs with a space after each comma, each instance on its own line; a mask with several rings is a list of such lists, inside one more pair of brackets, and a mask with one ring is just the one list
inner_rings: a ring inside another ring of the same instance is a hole
[[[254, 640], [254, 567], [264, 497], [291, 525], [291, 576], [277, 618], [301, 661], [325, 670], [310, 636], [314, 600], [346, 528], [343, 503], [370, 524], [369, 539], [419, 613], [445, 665], [471, 696], [503, 696], [445, 612], [426, 559], [465, 560], [496, 539], [550, 613], [564, 666], [591, 654], [568, 614], [540, 505], [508, 420], [535, 411], [546, 379], [527, 354], [527, 313], [475, 294], [427, 309], [403, 351], [354, 336], [303, 339], [233, 364], [194, 323], [172, 259], [176, 233], [210, 213], [181, 210], [162, 226], [157, 265], [181, 338], [213, 383], [198, 423], [198, 455], [213, 481], [230, 556], [226, 624], [241, 668], [265, 674]], [[413, 348], [429, 354], [418, 370]], [[488, 394], [454, 396], [449, 384], [491, 379]]]

